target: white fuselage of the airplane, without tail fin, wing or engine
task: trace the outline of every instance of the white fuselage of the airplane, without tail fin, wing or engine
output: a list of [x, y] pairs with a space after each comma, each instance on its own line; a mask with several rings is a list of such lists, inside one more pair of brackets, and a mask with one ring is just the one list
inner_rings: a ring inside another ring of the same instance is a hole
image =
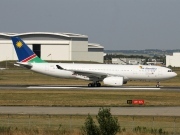
[[[114, 64], [73, 64], [73, 63], [31, 63], [32, 71], [61, 77], [92, 80], [86, 75], [74, 74], [74, 71], [103, 73], [109, 76], [120, 76], [124, 80], [154, 80], [160, 81], [175, 77], [171, 69], [148, 65], [114, 65]], [[61, 66], [63, 70], [57, 68]], [[100, 80], [102, 81], [102, 80]]]

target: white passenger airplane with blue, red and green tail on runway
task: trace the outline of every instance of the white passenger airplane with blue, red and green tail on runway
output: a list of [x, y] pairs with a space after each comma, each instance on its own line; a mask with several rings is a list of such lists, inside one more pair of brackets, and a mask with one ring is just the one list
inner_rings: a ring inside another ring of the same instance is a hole
[[100, 82], [122, 86], [129, 80], [156, 81], [156, 87], [160, 87], [160, 81], [177, 76], [167, 67], [152, 65], [48, 63], [39, 58], [19, 37], [11, 39], [18, 57], [16, 66], [54, 77], [92, 81], [88, 87], [100, 87]]

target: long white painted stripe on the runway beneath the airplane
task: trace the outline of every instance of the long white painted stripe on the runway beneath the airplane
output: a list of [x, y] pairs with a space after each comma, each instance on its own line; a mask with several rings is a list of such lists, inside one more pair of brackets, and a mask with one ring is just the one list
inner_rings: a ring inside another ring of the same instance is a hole
[[106, 90], [160, 90], [161, 88], [132, 88], [132, 87], [59, 87], [59, 86], [29, 86], [28, 89], [106, 89]]

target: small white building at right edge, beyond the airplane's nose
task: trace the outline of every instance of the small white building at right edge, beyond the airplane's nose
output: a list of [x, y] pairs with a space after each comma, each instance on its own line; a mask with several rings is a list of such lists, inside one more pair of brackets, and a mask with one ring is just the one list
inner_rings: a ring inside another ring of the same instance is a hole
[[180, 52], [174, 52], [173, 55], [166, 55], [166, 66], [180, 67]]

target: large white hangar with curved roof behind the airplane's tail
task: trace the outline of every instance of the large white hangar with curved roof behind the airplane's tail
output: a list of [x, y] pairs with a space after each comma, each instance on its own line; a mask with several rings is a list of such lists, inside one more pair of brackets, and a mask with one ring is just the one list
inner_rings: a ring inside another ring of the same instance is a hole
[[0, 61], [17, 60], [10, 39], [19, 36], [43, 60], [96, 61], [103, 63], [104, 47], [88, 43], [88, 36], [74, 33], [0, 33]]

